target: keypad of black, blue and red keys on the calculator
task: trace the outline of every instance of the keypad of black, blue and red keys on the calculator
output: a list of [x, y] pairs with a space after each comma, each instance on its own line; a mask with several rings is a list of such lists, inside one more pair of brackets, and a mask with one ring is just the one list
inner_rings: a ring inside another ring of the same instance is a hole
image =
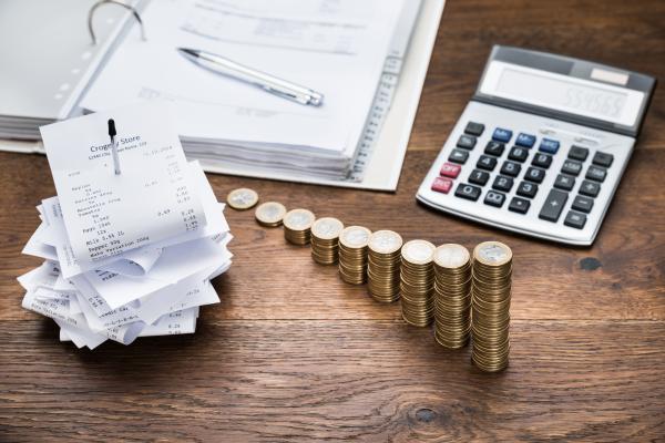
[[[481, 121], [467, 121], [462, 127], [463, 133], [456, 135], [454, 145], [439, 164], [432, 190], [450, 194], [444, 198], [469, 202], [464, 205], [525, 217], [526, 224], [529, 219], [540, 219], [540, 224], [580, 230], [590, 216], [597, 217], [594, 214], [602, 208], [595, 208], [595, 199], [607, 181], [614, 162], [612, 154], [569, 144], [557, 140], [555, 132], [540, 136], [535, 131], [514, 131], [519, 127], [492, 126]], [[454, 208], [453, 200], [446, 206]], [[534, 205], [536, 208], [532, 209]], [[467, 209], [457, 210], [464, 215]], [[477, 214], [491, 223], [489, 215]], [[495, 219], [501, 220], [499, 214]], [[518, 228], [528, 226], [511, 220]]]

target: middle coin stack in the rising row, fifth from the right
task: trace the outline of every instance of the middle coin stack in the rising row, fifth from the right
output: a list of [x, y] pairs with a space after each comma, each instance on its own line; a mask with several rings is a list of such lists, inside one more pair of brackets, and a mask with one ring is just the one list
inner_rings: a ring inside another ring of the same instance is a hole
[[367, 279], [367, 245], [371, 230], [349, 226], [339, 235], [339, 276], [351, 285], [362, 285]]

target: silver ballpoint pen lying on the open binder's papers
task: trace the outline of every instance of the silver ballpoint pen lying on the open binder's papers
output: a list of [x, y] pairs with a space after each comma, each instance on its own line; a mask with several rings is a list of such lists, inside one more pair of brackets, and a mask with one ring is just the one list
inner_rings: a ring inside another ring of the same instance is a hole
[[177, 50], [202, 68], [254, 84], [280, 97], [313, 106], [320, 106], [324, 102], [324, 94], [319, 92], [242, 65], [222, 55], [195, 49], [178, 48]]

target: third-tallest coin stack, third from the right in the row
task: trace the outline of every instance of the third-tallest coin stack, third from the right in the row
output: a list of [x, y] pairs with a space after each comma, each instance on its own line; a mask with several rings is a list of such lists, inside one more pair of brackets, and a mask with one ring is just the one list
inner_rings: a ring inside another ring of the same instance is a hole
[[400, 295], [402, 318], [412, 326], [432, 321], [434, 303], [434, 245], [426, 240], [407, 241], [401, 248]]

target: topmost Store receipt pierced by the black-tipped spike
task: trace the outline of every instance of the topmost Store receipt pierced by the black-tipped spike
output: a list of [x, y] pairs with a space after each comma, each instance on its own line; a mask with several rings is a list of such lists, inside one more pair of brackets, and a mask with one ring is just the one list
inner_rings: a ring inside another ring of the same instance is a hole
[[[113, 168], [108, 121], [117, 128]], [[72, 254], [80, 264], [195, 233], [205, 212], [165, 104], [42, 126]], [[85, 268], [85, 266], [84, 266]]]

